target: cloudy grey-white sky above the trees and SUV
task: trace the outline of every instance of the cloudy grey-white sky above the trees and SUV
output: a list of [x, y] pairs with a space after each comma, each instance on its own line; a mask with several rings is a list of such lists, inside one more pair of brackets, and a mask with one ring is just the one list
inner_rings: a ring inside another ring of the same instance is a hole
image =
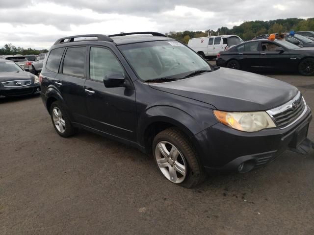
[[0, 47], [49, 49], [61, 37], [205, 31], [314, 17], [314, 0], [0, 0]]

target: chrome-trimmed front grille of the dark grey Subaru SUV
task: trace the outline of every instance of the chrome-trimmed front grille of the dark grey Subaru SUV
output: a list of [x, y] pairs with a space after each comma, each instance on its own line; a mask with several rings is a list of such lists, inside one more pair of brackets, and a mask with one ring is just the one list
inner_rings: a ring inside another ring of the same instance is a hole
[[267, 111], [279, 128], [286, 128], [301, 118], [307, 110], [305, 100], [300, 92], [286, 104]]

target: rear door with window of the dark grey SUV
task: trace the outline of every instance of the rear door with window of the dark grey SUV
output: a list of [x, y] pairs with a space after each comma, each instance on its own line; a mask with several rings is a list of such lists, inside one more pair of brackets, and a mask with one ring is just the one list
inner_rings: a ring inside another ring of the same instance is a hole
[[86, 56], [86, 46], [67, 47], [54, 85], [71, 113], [72, 121], [89, 126], [84, 92]]

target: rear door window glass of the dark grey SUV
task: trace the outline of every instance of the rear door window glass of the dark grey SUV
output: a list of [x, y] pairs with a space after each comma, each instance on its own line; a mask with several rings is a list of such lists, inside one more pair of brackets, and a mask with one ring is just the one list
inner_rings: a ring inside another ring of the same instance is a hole
[[86, 47], [69, 47], [63, 60], [63, 73], [85, 77]]

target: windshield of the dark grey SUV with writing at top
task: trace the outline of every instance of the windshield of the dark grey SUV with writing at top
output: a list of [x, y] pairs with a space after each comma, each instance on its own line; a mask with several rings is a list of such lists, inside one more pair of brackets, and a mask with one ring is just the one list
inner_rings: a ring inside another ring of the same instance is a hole
[[211, 70], [209, 64], [177, 41], [155, 41], [119, 46], [141, 80], [181, 79], [193, 71]]

